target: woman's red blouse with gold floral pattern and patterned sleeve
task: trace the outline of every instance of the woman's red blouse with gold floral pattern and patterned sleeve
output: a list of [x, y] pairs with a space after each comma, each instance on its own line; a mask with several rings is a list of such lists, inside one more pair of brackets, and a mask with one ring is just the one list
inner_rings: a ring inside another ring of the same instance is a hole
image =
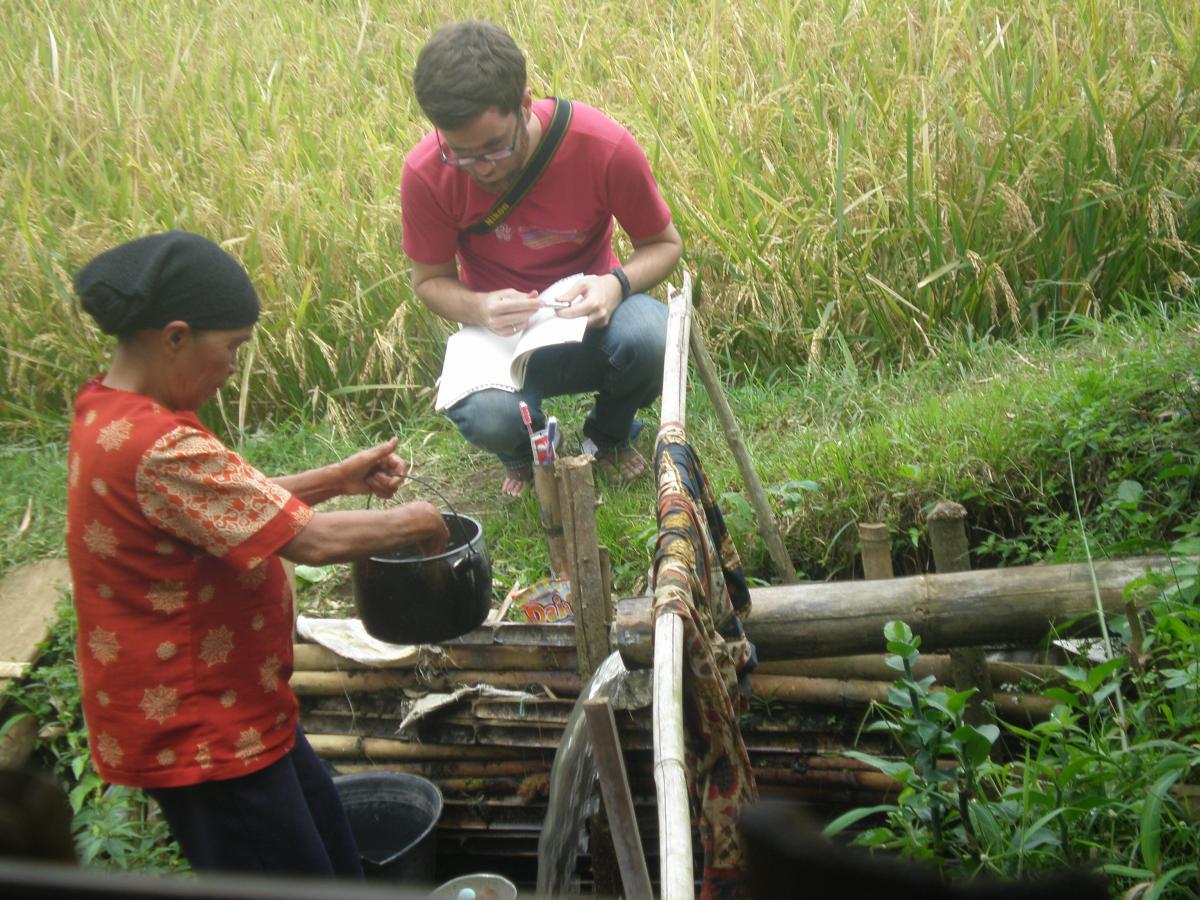
[[137, 787], [236, 778], [295, 740], [292, 589], [312, 510], [192, 413], [89, 382], [67, 469], [76, 656], [96, 770]]

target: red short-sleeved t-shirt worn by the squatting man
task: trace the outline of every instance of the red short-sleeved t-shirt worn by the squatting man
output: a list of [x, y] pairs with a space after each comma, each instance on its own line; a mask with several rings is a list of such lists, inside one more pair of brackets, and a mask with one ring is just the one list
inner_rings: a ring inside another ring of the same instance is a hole
[[[461, 169], [442, 162], [427, 134], [404, 158], [401, 211], [409, 259], [438, 265], [458, 258], [458, 277], [472, 290], [541, 290], [568, 275], [604, 275], [618, 259], [612, 220], [637, 240], [671, 223], [646, 154], [620, 125], [584, 103], [538, 184], [499, 226], [467, 234], [499, 197]], [[550, 126], [551, 98], [534, 115]]]

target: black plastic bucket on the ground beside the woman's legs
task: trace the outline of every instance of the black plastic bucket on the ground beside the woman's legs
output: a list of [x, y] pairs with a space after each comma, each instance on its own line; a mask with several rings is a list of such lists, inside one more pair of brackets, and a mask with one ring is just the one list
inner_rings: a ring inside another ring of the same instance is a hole
[[437, 863], [442, 792], [404, 772], [365, 772], [334, 779], [362, 870], [378, 881], [428, 884]]

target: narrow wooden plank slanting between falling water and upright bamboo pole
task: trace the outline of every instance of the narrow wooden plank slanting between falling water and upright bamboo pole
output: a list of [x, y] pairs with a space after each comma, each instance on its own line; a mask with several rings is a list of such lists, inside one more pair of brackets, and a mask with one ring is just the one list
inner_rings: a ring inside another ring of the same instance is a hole
[[620, 882], [625, 888], [624, 896], [653, 900], [650, 871], [646, 868], [642, 836], [637, 830], [637, 817], [634, 814], [634, 797], [629, 790], [629, 773], [625, 770], [625, 758], [622, 756], [612, 707], [605, 698], [588, 700], [583, 703], [583, 714], [587, 716], [588, 732], [592, 734], [600, 796], [608, 816]]

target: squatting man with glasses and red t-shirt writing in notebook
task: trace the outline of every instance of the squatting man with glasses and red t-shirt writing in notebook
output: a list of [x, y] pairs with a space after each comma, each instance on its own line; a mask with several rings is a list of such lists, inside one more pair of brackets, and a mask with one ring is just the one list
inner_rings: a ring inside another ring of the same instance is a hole
[[[643, 292], [674, 269], [683, 245], [646, 154], [617, 122], [583, 103], [541, 176], [499, 224], [468, 229], [517, 184], [545, 137], [551, 98], [534, 101], [512, 38], [486, 22], [438, 30], [413, 72], [434, 125], [406, 157], [401, 203], [413, 289], [433, 312], [497, 340], [521, 332], [541, 308], [538, 292], [582, 272], [575, 302], [557, 314], [587, 318], [581, 343], [536, 350], [515, 392], [484, 389], [446, 414], [472, 444], [505, 467], [502, 490], [532, 478], [520, 402], [541, 428], [541, 401], [595, 392], [583, 425], [596, 460], [625, 479], [646, 470], [630, 446], [634, 415], [662, 390], [666, 307]], [[612, 248], [613, 218], [634, 252]]]

